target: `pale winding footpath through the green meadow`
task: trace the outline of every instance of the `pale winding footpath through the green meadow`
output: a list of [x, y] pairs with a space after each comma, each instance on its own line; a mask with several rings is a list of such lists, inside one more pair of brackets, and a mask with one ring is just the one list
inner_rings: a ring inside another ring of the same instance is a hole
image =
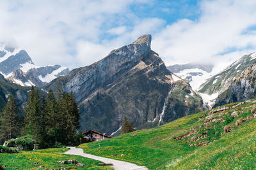
[[109, 158], [104, 158], [104, 157], [98, 157], [95, 155], [91, 155], [91, 154], [87, 154], [83, 152], [83, 149], [81, 148], [76, 148], [76, 147], [68, 147], [70, 148], [70, 150], [68, 150], [67, 152], [63, 153], [63, 154], [68, 154], [68, 155], [80, 155], [82, 157], [87, 157], [90, 159], [95, 159], [95, 160], [99, 160], [101, 162], [104, 163], [112, 163], [113, 167], [115, 170], [148, 170], [147, 167], [145, 166], [137, 166], [136, 164], [132, 164], [130, 162], [124, 162], [121, 160], [115, 160], [115, 159], [109, 159]]

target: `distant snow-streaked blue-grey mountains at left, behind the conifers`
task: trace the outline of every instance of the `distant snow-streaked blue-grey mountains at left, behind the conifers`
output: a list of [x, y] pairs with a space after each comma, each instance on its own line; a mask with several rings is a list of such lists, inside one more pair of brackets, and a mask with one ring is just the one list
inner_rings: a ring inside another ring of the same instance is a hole
[[0, 46], [0, 73], [4, 78], [22, 86], [42, 87], [58, 76], [69, 73], [67, 67], [35, 66], [25, 50], [8, 45]]

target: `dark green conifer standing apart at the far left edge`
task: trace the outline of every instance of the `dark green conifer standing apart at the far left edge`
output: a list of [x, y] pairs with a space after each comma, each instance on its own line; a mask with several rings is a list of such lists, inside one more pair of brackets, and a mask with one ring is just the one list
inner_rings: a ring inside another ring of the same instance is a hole
[[11, 139], [20, 133], [19, 107], [15, 101], [15, 96], [10, 95], [4, 110], [1, 113], [0, 138]]

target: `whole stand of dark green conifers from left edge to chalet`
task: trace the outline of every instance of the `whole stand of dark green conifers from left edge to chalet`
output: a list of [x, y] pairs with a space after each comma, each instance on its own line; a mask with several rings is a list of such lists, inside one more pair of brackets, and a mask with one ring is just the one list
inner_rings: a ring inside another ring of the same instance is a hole
[[15, 96], [11, 94], [8, 97], [0, 113], [0, 139], [29, 134], [41, 148], [74, 145], [77, 143], [79, 118], [72, 92], [63, 92], [58, 87], [56, 93], [50, 89], [46, 96], [40, 97], [39, 90], [31, 87], [23, 117], [20, 116]]

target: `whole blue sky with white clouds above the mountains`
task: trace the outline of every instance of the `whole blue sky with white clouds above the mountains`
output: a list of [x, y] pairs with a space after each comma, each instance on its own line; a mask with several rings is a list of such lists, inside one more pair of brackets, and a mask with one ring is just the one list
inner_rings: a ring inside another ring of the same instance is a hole
[[152, 34], [166, 66], [223, 67], [256, 52], [255, 0], [0, 0], [0, 42], [36, 66], [84, 67]]

